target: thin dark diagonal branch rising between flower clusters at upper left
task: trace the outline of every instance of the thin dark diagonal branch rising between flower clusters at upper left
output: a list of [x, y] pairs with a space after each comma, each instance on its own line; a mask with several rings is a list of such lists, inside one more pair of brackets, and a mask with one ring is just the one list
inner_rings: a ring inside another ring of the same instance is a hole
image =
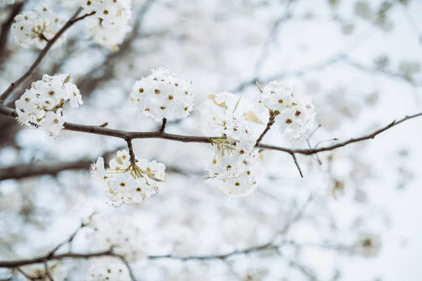
[[77, 11], [72, 15], [72, 18], [70, 18], [70, 20], [68, 20], [68, 22], [63, 25], [63, 27], [56, 33], [56, 35], [51, 40], [49, 40], [44, 49], [42, 49], [42, 51], [39, 53], [38, 58], [34, 61], [34, 63], [32, 63], [27, 72], [25, 72], [25, 74], [23, 74], [18, 80], [14, 81], [10, 86], [8, 86], [6, 91], [4, 91], [4, 93], [2, 93], [0, 96], [0, 103], [5, 103], [8, 97], [11, 96], [13, 91], [34, 73], [41, 61], [50, 51], [53, 44], [56, 43], [56, 41], [60, 38], [60, 36], [65, 33], [65, 31], [68, 30], [68, 28], [71, 27], [75, 22], [77, 22], [77, 20], [82, 20], [82, 18], [84, 18], [77, 18], [77, 15], [79, 15], [81, 11], [82, 7], [79, 7]]

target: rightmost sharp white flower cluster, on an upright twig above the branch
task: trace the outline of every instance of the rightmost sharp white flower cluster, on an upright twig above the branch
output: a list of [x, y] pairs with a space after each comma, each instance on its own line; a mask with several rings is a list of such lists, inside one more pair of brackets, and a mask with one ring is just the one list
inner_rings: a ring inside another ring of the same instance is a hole
[[261, 110], [265, 107], [275, 116], [281, 133], [298, 139], [313, 126], [315, 107], [310, 96], [296, 97], [283, 83], [271, 81], [256, 98]]

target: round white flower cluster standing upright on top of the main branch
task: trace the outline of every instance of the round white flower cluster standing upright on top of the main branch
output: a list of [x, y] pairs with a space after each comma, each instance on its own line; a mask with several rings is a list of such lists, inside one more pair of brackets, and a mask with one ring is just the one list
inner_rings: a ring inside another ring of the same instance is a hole
[[130, 100], [146, 117], [167, 120], [188, 117], [193, 110], [191, 84], [163, 67], [151, 69], [153, 74], [136, 81]]

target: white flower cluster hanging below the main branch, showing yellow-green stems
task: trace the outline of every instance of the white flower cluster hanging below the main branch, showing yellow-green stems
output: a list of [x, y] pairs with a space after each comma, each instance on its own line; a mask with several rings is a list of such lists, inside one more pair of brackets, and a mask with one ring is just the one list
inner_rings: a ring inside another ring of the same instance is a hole
[[109, 168], [104, 168], [103, 157], [91, 165], [91, 177], [105, 186], [105, 194], [114, 204], [136, 204], [155, 195], [160, 182], [165, 181], [165, 165], [155, 160], [130, 159], [127, 150], [117, 151]]

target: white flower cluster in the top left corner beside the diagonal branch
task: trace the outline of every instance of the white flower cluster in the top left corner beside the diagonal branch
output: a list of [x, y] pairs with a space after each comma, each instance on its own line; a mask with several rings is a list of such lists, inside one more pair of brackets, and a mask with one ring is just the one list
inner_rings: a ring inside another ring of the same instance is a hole
[[[11, 32], [18, 45], [24, 48], [44, 48], [47, 42], [56, 36], [64, 25], [64, 21], [57, 17], [51, 8], [45, 5], [37, 6], [35, 11], [27, 11], [15, 16]], [[57, 48], [65, 41], [62, 35], [52, 46]]]

